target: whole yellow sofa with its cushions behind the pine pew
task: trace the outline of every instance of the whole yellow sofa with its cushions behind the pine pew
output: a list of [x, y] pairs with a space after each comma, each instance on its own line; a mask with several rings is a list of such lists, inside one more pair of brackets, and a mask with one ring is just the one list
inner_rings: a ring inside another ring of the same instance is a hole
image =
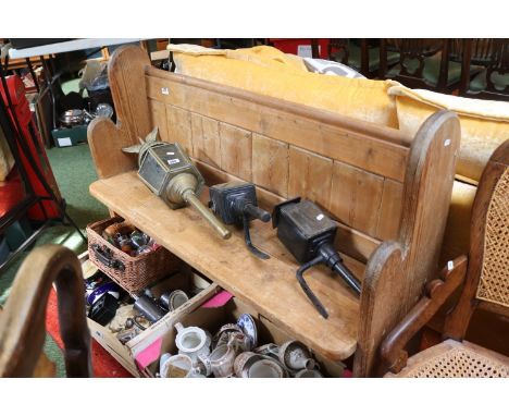
[[[310, 73], [299, 57], [270, 47], [215, 50], [170, 45], [179, 73], [399, 129], [413, 137], [432, 113], [459, 114], [457, 173], [479, 181], [493, 150], [509, 138], [509, 105], [412, 90], [394, 81]], [[476, 187], [455, 181], [444, 236], [443, 262], [468, 253]]]

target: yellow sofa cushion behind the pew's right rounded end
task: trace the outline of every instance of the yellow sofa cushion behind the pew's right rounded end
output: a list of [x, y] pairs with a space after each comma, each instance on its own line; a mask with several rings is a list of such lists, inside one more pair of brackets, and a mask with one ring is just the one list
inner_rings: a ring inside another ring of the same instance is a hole
[[509, 102], [455, 97], [425, 89], [394, 86], [399, 129], [414, 136], [434, 112], [447, 109], [458, 113], [461, 149], [456, 172], [479, 181], [492, 152], [509, 138]]

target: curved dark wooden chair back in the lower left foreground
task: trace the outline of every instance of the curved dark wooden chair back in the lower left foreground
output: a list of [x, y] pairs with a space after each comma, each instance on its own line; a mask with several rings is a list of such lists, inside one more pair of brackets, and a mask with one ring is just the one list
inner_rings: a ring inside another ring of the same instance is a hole
[[60, 332], [67, 377], [90, 377], [90, 333], [85, 316], [82, 268], [59, 245], [35, 248], [17, 271], [0, 314], [0, 377], [49, 377], [54, 367], [42, 352], [46, 304], [57, 285]]

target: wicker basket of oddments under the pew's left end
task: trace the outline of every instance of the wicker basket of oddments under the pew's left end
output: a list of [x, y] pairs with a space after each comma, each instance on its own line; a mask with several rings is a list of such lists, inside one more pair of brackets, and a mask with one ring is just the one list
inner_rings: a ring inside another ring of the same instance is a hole
[[100, 270], [131, 293], [177, 270], [178, 258], [164, 247], [132, 257], [102, 237], [108, 225], [122, 221], [124, 219], [114, 217], [87, 225], [88, 255]]

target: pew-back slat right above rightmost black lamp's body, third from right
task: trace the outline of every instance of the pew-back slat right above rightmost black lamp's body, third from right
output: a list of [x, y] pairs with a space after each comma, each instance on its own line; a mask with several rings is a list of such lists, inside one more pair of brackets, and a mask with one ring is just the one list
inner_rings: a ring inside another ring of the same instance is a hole
[[333, 173], [332, 159], [289, 148], [288, 196], [301, 196], [328, 210]]

